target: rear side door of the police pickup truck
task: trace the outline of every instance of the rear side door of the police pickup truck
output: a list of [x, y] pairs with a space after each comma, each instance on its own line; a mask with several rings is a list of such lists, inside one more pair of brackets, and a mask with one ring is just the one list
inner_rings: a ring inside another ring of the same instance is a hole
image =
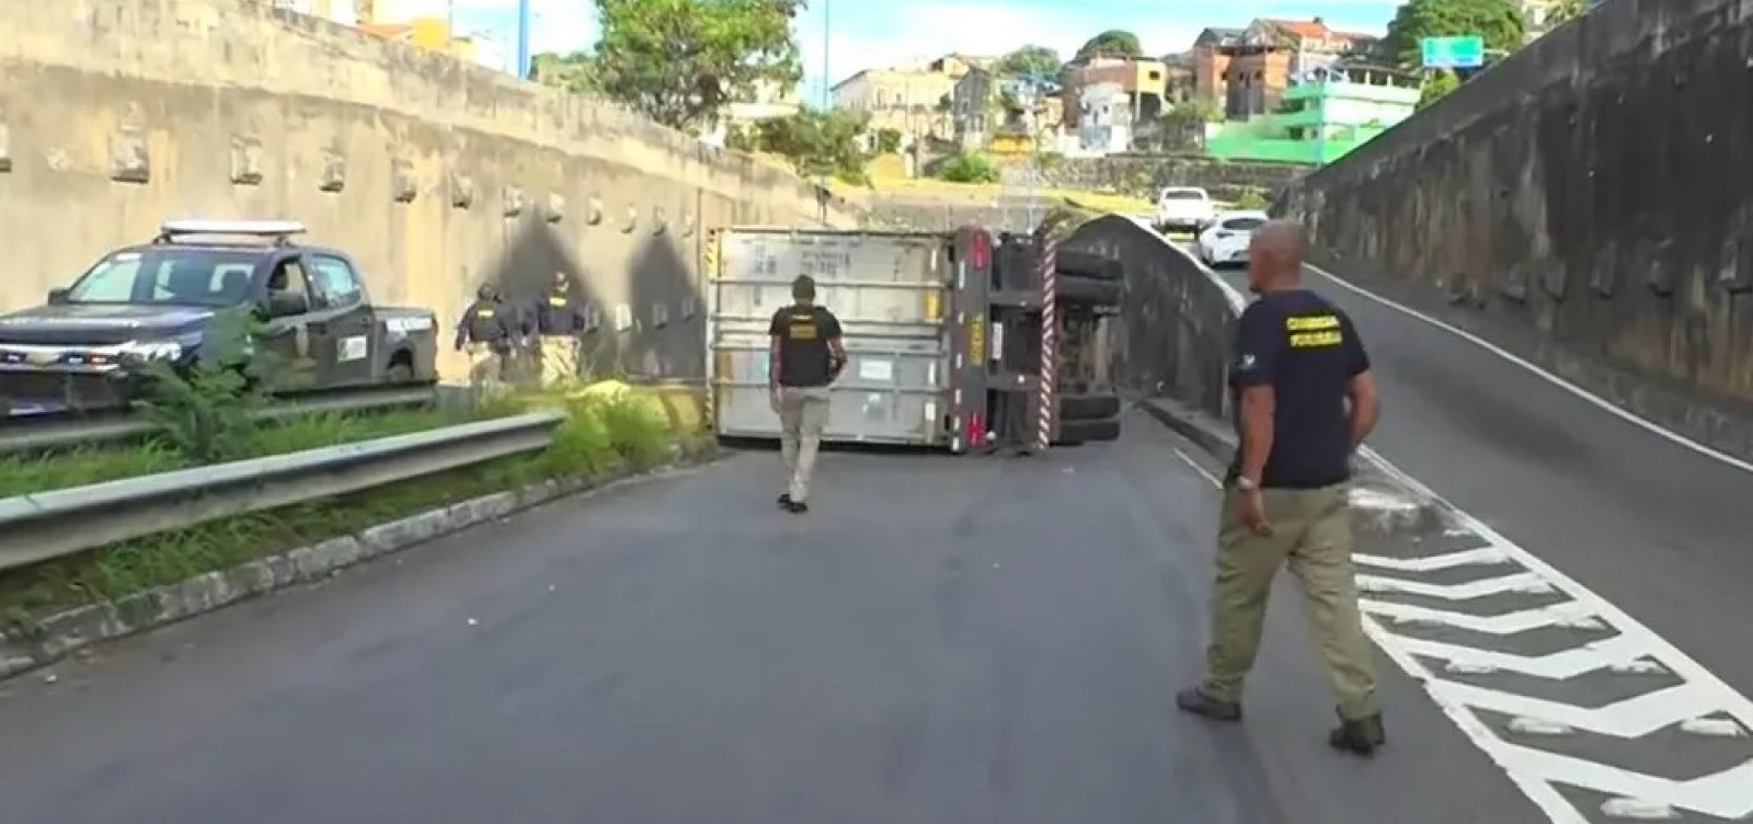
[[323, 386], [361, 386], [377, 380], [377, 333], [372, 305], [352, 261], [340, 254], [305, 252], [314, 291], [312, 337], [323, 340], [317, 358]]

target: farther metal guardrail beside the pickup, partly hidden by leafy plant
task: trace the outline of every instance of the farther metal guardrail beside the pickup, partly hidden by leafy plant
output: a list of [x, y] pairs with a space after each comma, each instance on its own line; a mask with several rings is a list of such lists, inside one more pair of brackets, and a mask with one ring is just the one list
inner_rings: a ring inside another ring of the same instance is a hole
[[[263, 408], [259, 421], [277, 421], [321, 412], [365, 412], [396, 407], [428, 407], [438, 401], [438, 386], [373, 386], [335, 393], [293, 396]], [[0, 417], [0, 454], [35, 452], [82, 444], [144, 438], [158, 428], [130, 412], [42, 414]]]

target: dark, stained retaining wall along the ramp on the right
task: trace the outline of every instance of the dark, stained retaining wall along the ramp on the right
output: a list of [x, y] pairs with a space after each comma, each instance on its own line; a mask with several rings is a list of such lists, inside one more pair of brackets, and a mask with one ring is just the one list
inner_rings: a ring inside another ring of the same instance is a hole
[[[1753, 0], [1615, 0], [1309, 175], [1346, 273], [1753, 451]], [[1520, 330], [1520, 331], [1518, 331]], [[1627, 379], [1630, 375], [1632, 379]]]

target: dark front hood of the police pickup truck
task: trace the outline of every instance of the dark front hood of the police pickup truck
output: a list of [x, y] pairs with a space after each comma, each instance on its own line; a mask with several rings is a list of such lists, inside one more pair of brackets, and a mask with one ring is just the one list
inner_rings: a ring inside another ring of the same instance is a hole
[[0, 345], [110, 345], [182, 335], [212, 317], [200, 307], [61, 303], [0, 316]]

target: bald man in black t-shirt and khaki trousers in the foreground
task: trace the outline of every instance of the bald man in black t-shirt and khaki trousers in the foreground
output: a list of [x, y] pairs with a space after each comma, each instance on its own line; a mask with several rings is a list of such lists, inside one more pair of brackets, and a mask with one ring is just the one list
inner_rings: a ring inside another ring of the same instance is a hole
[[1211, 645], [1199, 685], [1176, 705], [1241, 717], [1266, 600], [1280, 565], [1302, 584], [1341, 724], [1329, 743], [1369, 756], [1387, 736], [1376, 707], [1374, 654], [1364, 636], [1352, 570], [1350, 461], [1376, 424], [1376, 384], [1352, 319], [1308, 291], [1302, 228], [1255, 231], [1248, 288], [1259, 300], [1238, 323], [1231, 366], [1239, 449], [1224, 482]]

